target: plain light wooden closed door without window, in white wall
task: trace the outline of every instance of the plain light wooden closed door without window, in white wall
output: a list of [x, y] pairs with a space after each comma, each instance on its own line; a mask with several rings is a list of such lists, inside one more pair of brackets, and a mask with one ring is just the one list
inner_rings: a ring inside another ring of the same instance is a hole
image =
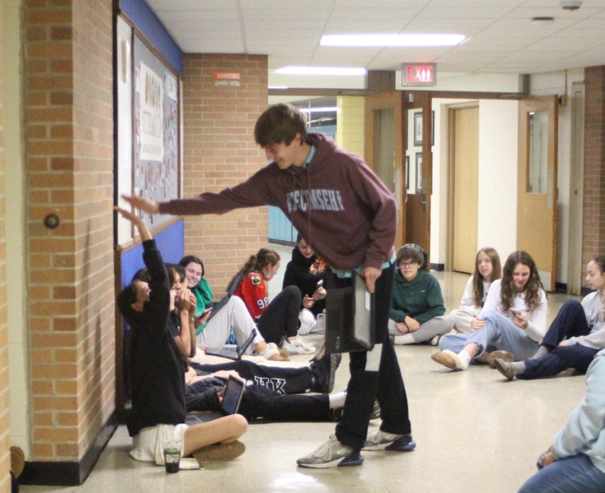
[[473, 273], [479, 204], [479, 108], [451, 110], [452, 270]]

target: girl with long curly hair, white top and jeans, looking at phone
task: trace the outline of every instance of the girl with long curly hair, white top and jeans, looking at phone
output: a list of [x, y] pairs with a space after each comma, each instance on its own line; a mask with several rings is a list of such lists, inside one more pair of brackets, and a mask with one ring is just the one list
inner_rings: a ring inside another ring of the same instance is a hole
[[506, 259], [502, 279], [489, 288], [485, 305], [471, 322], [474, 332], [441, 338], [431, 356], [452, 370], [467, 370], [471, 359], [494, 366], [496, 358], [531, 358], [546, 332], [546, 293], [534, 259], [518, 250]]

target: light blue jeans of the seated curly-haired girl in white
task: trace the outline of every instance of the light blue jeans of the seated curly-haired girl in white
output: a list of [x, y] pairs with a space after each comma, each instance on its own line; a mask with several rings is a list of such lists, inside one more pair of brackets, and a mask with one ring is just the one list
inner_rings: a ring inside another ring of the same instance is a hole
[[515, 356], [515, 361], [531, 358], [538, 350], [538, 343], [532, 340], [509, 318], [494, 311], [487, 311], [483, 316], [485, 327], [473, 332], [473, 334], [448, 334], [439, 341], [439, 347], [450, 349], [454, 353], [462, 351], [466, 344], [475, 343], [479, 347], [476, 356], [483, 352], [492, 352], [496, 349], [507, 351]]

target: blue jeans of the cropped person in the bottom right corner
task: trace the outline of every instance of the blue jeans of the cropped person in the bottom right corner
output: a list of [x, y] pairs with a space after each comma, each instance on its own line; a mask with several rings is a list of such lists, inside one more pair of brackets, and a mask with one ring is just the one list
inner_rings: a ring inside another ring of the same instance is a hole
[[605, 472], [596, 468], [588, 456], [578, 454], [555, 460], [529, 478], [518, 493], [602, 493]]

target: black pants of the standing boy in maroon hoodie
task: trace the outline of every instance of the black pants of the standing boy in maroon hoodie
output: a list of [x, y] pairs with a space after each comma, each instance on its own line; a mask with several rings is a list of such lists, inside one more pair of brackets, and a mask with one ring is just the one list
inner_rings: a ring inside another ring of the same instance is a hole
[[[360, 449], [368, 433], [368, 422], [378, 399], [381, 407], [381, 430], [387, 433], [411, 433], [408, 399], [397, 356], [388, 335], [388, 314], [391, 307], [393, 265], [382, 270], [376, 280], [374, 295], [374, 326], [376, 345], [371, 352], [350, 353], [351, 378], [347, 385], [347, 401], [342, 421], [336, 425], [336, 437], [345, 445]], [[334, 287], [352, 284], [351, 279], [331, 280]], [[330, 283], [331, 284], [331, 283]]]

